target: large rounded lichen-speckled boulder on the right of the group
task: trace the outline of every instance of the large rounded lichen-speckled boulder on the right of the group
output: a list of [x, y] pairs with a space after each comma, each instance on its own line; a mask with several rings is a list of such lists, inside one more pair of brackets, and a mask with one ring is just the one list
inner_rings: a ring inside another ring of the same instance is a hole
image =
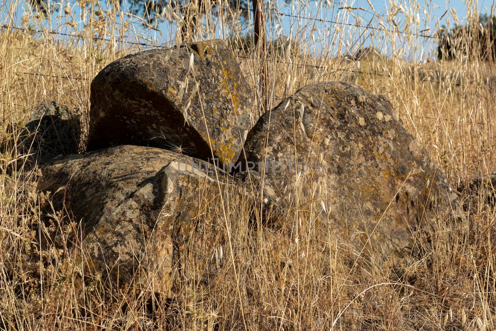
[[436, 207], [456, 200], [389, 101], [344, 82], [306, 86], [265, 113], [248, 132], [245, 152], [240, 162], [253, 162], [283, 197], [298, 177], [292, 164], [306, 162], [298, 187], [321, 200], [329, 227], [351, 239], [357, 254], [369, 245], [384, 257], [411, 254]]

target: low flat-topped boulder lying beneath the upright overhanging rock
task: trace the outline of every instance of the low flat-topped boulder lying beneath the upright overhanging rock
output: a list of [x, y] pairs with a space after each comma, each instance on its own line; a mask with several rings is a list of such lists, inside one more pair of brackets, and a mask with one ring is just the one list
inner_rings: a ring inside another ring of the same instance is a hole
[[242, 174], [241, 181], [217, 171], [220, 185], [212, 164], [164, 149], [121, 145], [43, 167], [39, 190], [55, 193], [56, 210], [63, 205], [73, 220], [82, 221], [87, 273], [109, 280], [114, 289], [154, 275], [155, 289], [167, 293], [188, 233], [209, 226], [204, 235], [218, 235], [211, 223], [222, 215], [219, 187], [230, 205], [248, 199], [243, 201], [253, 209], [270, 213], [275, 201], [270, 187], [253, 196], [259, 192], [258, 174], [250, 174], [253, 181]]

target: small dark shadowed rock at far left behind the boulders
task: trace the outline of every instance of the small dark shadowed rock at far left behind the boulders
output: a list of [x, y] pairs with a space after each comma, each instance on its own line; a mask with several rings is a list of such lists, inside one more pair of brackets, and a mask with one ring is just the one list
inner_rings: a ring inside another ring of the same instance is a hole
[[45, 164], [78, 152], [79, 115], [56, 101], [42, 103], [33, 112], [18, 145], [31, 154], [33, 164]]

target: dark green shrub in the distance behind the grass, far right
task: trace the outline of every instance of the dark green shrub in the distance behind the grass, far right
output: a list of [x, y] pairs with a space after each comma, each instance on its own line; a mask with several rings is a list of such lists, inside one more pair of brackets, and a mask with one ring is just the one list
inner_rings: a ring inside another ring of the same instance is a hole
[[475, 24], [443, 27], [438, 38], [439, 60], [496, 60], [496, 16], [481, 14]]

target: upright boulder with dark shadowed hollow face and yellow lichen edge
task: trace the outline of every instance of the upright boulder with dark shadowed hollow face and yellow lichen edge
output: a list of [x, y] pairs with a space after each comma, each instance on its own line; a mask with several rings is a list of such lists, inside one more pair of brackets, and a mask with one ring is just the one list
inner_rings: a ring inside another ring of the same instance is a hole
[[[188, 69], [191, 54], [193, 69]], [[199, 91], [192, 95], [195, 81]], [[238, 158], [249, 129], [250, 97], [223, 40], [128, 55], [106, 66], [91, 84], [88, 150], [109, 142], [181, 146], [188, 155], [207, 160], [210, 135], [214, 156], [228, 164]]]

